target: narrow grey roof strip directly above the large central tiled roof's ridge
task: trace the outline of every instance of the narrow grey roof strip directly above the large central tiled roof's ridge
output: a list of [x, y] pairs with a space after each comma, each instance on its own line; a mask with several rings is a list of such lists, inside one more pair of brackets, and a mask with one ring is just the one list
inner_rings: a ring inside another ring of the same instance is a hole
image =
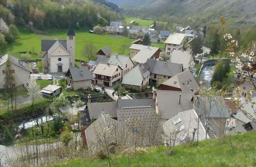
[[120, 99], [118, 100], [118, 108], [140, 107], [140, 106], [152, 106], [155, 109], [156, 100], [153, 100], [153, 99]]

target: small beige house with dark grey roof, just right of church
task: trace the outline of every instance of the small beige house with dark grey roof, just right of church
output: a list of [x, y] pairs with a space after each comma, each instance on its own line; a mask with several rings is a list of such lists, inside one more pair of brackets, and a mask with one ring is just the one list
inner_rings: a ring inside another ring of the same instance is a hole
[[86, 67], [70, 67], [66, 77], [67, 84], [73, 90], [88, 89], [91, 86], [91, 80], [94, 79], [93, 73]]

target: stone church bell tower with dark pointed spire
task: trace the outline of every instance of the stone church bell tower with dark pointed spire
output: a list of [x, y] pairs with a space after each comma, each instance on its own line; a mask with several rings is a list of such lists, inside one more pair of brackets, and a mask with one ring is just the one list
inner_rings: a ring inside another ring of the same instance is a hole
[[70, 25], [67, 33], [67, 50], [71, 55], [70, 66], [72, 67], [75, 66], [75, 39], [76, 34], [74, 32], [73, 27]]

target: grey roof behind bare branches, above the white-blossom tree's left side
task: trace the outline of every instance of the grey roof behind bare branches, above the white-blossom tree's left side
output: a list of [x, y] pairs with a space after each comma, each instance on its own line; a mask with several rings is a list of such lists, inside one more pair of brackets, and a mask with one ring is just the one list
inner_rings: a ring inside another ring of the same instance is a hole
[[[202, 97], [204, 98], [204, 97]], [[230, 111], [224, 104], [224, 101], [220, 102], [220, 96], [216, 95], [215, 97], [209, 97], [209, 100], [206, 101], [206, 104], [202, 104], [200, 99], [197, 99], [197, 95], [194, 95], [194, 109], [204, 115], [208, 116], [210, 112], [210, 117], [213, 118], [230, 118]], [[204, 109], [204, 105], [206, 105], [206, 109]], [[211, 106], [211, 109], [209, 108]]]

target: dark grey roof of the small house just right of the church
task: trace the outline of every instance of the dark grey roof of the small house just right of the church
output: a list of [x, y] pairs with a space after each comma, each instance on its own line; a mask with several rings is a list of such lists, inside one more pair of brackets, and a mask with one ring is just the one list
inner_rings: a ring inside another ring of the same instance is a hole
[[93, 79], [93, 73], [86, 67], [70, 67], [69, 72], [71, 73], [71, 77], [74, 82]]

